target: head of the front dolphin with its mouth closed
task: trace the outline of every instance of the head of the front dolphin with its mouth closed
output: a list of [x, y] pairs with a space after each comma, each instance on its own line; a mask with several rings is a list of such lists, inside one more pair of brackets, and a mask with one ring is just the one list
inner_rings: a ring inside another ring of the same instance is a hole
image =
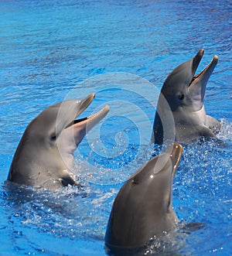
[[174, 143], [165, 153], [146, 162], [128, 180], [134, 189], [145, 190], [153, 210], [159, 207], [164, 213], [172, 211], [172, 183], [182, 152], [182, 145]]

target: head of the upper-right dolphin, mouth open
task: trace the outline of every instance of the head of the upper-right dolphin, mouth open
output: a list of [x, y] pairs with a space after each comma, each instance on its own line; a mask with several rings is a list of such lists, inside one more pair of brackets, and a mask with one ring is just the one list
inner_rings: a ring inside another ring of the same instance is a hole
[[200, 49], [193, 59], [176, 67], [166, 78], [161, 93], [172, 111], [179, 107], [193, 108], [193, 111], [203, 108], [206, 83], [218, 61], [218, 57], [214, 56], [209, 65], [195, 75], [203, 53], [203, 49]]

